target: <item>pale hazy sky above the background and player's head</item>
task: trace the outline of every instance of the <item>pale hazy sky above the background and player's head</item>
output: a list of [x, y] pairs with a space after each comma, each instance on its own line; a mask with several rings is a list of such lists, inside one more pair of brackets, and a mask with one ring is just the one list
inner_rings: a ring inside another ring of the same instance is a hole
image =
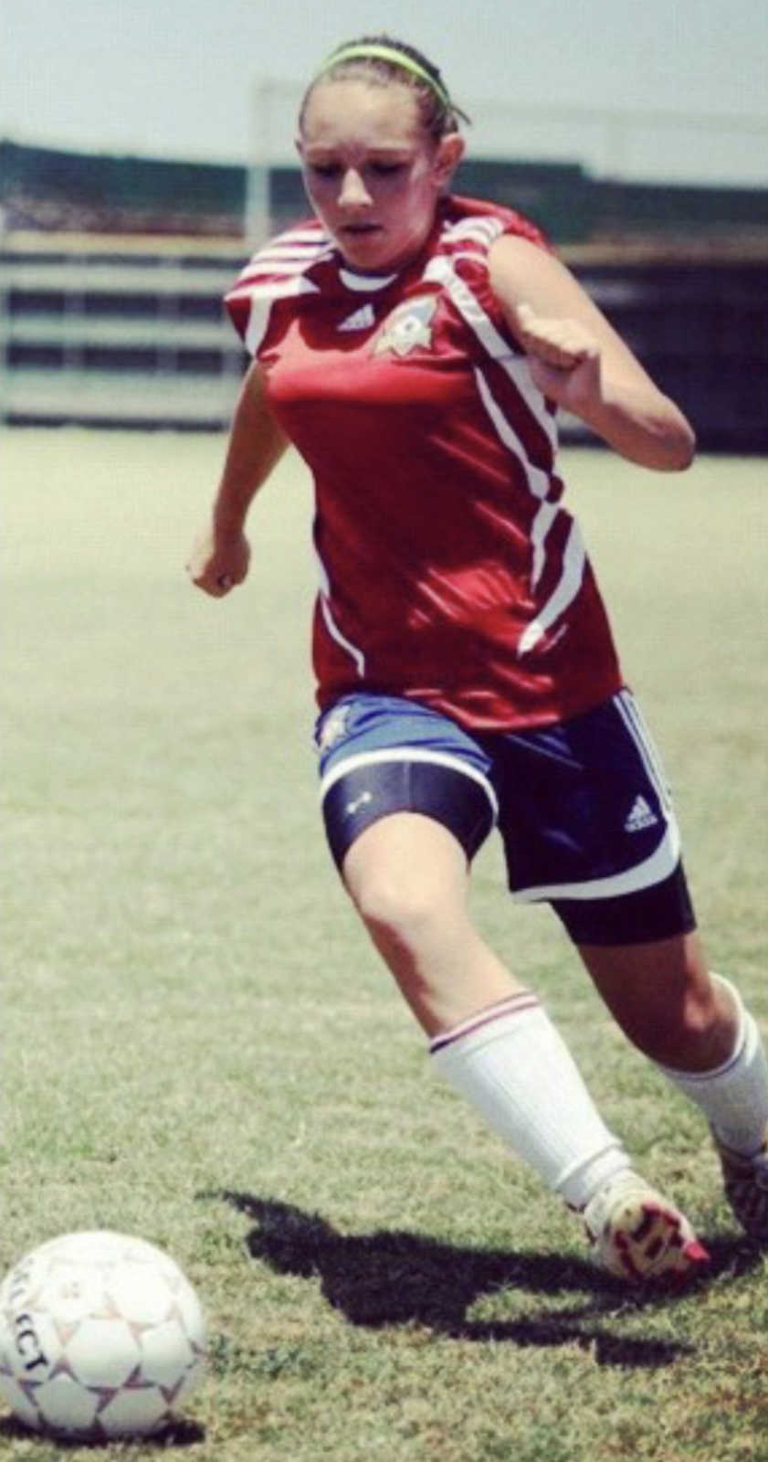
[[[476, 155], [768, 186], [768, 0], [0, 0], [0, 136], [245, 162], [258, 83], [380, 29], [441, 66]], [[291, 156], [293, 96], [269, 127]]]

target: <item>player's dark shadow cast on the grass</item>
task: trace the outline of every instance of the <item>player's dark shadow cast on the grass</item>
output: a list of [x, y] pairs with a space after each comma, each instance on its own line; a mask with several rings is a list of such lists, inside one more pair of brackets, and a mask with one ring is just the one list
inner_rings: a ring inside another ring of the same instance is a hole
[[[318, 1276], [329, 1304], [352, 1325], [380, 1327], [418, 1323], [464, 1341], [508, 1341], [514, 1345], [581, 1345], [603, 1366], [667, 1366], [694, 1347], [686, 1341], [642, 1339], [613, 1333], [612, 1323], [638, 1310], [680, 1298], [669, 1287], [628, 1291], [619, 1279], [572, 1256], [536, 1251], [458, 1249], [422, 1234], [378, 1231], [340, 1234], [317, 1213], [251, 1193], [219, 1192], [219, 1197], [254, 1221], [247, 1247], [277, 1273]], [[720, 1273], [750, 1269], [759, 1256], [745, 1241], [708, 1241], [713, 1257], [694, 1288]], [[688, 1284], [682, 1294], [689, 1295]], [[518, 1291], [526, 1313], [512, 1319], [472, 1319], [482, 1297]], [[574, 1294], [574, 1303], [567, 1297]], [[536, 1310], [536, 1297], [558, 1297], [558, 1307]], [[575, 1298], [578, 1295], [578, 1298]]]

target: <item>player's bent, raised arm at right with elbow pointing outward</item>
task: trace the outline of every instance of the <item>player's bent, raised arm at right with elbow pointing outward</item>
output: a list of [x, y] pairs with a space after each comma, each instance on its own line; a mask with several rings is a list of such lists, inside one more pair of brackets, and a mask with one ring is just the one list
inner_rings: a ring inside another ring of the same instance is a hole
[[504, 237], [489, 266], [539, 390], [631, 462], [669, 472], [689, 466], [692, 427], [565, 265], [527, 238]]

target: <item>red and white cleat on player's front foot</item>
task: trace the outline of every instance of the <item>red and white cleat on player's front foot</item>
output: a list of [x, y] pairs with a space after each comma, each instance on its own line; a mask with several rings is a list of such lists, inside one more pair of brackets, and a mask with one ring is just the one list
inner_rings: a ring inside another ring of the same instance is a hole
[[593, 1259], [631, 1284], [683, 1279], [710, 1259], [685, 1215], [631, 1170], [599, 1189], [583, 1218]]

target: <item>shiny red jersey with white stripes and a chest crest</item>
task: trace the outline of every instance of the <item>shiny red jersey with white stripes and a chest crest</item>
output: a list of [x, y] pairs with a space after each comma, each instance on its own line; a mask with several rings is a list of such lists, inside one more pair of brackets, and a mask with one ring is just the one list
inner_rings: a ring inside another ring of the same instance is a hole
[[453, 196], [413, 263], [369, 276], [310, 221], [226, 297], [314, 475], [323, 709], [375, 690], [494, 731], [565, 719], [621, 686], [561, 503], [555, 414], [489, 287], [505, 232], [543, 246], [518, 213]]

